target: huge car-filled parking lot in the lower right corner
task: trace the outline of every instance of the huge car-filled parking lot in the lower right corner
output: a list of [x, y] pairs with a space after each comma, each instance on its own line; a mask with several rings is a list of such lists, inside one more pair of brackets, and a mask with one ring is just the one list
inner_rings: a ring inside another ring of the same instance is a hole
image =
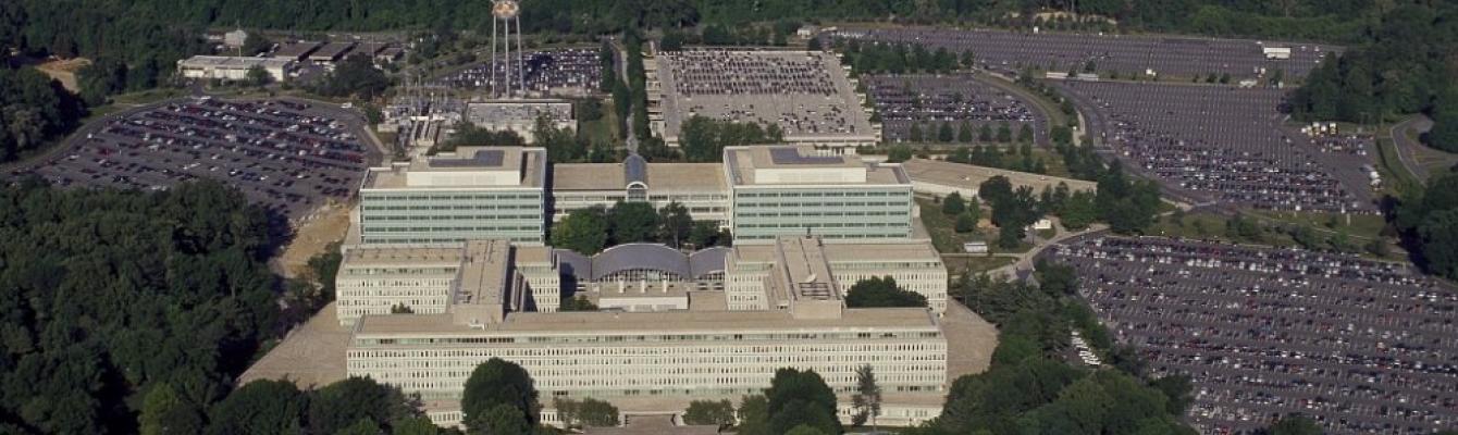
[[1153, 375], [1193, 378], [1190, 419], [1206, 434], [1287, 413], [1327, 434], [1458, 426], [1458, 295], [1406, 265], [1155, 237], [1054, 256]]

